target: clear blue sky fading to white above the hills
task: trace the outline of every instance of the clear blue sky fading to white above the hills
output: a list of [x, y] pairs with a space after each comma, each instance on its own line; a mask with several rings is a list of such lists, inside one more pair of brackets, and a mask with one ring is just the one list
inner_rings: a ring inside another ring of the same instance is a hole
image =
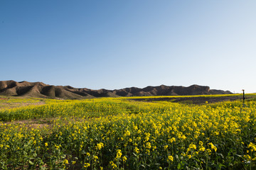
[[255, 9], [255, 0], [1, 0], [0, 80], [256, 92]]

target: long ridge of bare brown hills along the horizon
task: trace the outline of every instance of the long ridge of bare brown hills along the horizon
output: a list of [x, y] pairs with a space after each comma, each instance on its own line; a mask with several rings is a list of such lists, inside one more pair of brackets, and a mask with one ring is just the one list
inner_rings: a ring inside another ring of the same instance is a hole
[[52, 86], [42, 82], [28, 81], [0, 81], [0, 95], [2, 96], [28, 96], [38, 98], [64, 98], [82, 99], [94, 97], [119, 96], [173, 96], [173, 95], [203, 95], [203, 94], [232, 94], [230, 91], [210, 90], [209, 86], [147, 86], [143, 89], [137, 87], [117, 90], [92, 90], [74, 88], [72, 86]]

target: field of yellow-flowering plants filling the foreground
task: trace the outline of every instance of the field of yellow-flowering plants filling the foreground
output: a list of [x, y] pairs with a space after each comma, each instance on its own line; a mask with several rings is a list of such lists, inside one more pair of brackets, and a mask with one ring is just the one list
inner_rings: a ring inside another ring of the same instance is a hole
[[126, 98], [0, 111], [0, 169], [255, 169], [256, 101]]

